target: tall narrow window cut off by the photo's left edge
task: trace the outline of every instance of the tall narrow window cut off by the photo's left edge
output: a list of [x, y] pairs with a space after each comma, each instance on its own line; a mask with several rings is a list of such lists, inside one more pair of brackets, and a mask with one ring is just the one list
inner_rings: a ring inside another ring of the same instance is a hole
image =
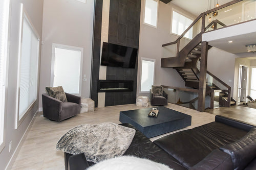
[[0, 152], [2, 151], [5, 145], [5, 81], [7, 63], [9, 3], [9, 0], [0, 1]]

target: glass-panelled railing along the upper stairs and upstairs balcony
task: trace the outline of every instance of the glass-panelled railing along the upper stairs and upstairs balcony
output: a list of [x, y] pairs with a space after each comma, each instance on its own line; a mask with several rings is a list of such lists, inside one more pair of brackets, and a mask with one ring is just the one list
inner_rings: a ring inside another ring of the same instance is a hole
[[[191, 39], [184, 36], [191, 32], [192, 39], [198, 34], [244, 23], [256, 18], [256, 0], [234, 0], [201, 13], [174, 42], [163, 44], [163, 58], [179, 57], [179, 52]], [[213, 16], [213, 13], [218, 15]], [[209, 17], [211, 19], [209, 20]]]

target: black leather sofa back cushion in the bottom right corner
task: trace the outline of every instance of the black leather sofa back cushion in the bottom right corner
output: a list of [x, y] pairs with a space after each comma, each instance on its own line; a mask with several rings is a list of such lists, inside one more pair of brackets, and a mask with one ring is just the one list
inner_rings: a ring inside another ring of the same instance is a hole
[[227, 144], [220, 149], [231, 156], [234, 169], [244, 169], [256, 156], [256, 127], [251, 128], [240, 140]]

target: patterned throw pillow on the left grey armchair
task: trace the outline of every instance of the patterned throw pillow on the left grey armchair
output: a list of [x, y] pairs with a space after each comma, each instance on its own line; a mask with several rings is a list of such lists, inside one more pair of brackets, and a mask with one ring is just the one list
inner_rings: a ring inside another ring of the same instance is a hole
[[50, 95], [52, 98], [55, 98], [61, 102], [68, 102], [66, 94], [65, 94], [62, 86], [46, 87], [46, 93], [48, 95]]

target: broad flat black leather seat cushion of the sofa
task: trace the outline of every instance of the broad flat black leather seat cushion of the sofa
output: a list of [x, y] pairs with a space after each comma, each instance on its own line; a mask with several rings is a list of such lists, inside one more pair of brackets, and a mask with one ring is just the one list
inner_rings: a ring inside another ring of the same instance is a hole
[[222, 123], [212, 122], [154, 141], [160, 148], [176, 158], [183, 166], [190, 168], [215, 149], [243, 137], [247, 131]]

